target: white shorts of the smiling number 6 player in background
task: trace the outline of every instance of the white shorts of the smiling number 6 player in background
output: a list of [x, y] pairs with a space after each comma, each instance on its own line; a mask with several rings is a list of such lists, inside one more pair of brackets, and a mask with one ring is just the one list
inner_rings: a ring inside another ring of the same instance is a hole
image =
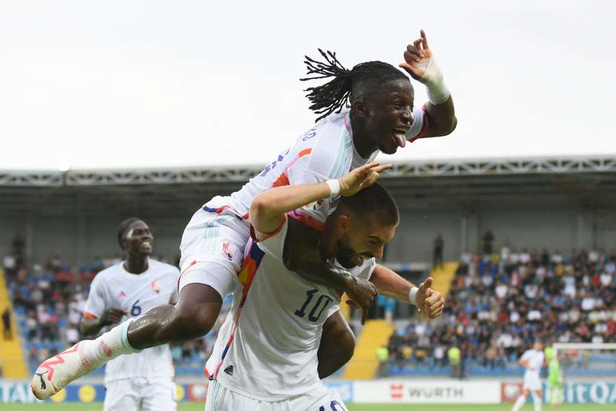
[[105, 384], [103, 411], [174, 411], [177, 388], [171, 378], [118, 379]]

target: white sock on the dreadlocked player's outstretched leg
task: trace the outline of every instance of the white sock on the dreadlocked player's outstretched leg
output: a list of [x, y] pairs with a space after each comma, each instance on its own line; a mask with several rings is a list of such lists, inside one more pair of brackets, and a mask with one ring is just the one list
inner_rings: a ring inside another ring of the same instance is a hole
[[84, 365], [88, 369], [97, 369], [117, 356], [140, 352], [140, 349], [134, 349], [128, 342], [127, 332], [132, 321], [128, 319], [95, 340], [81, 341], [80, 351], [88, 363]]

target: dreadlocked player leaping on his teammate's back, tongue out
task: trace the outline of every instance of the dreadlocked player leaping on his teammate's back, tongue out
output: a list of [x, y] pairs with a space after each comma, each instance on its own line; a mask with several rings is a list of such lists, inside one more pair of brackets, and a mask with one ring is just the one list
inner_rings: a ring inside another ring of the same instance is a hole
[[[333, 77], [329, 83], [309, 90], [313, 110], [326, 117], [320, 116], [321, 121], [240, 190], [214, 197], [192, 216], [180, 245], [177, 305], [151, 308], [100, 336], [105, 347], [112, 347], [109, 356], [103, 352], [85, 358], [81, 351], [68, 350], [62, 353], [62, 363], [50, 359], [46, 363], [54, 364], [53, 377], [49, 375], [44, 387], [33, 379], [37, 398], [57, 393], [79, 375], [118, 355], [190, 340], [209, 332], [218, 319], [222, 299], [233, 292], [236, 277], [241, 274], [244, 248], [251, 238], [251, 203], [272, 187], [326, 182], [331, 188], [329, 197], [289, 213], [285, 247], [292, 247], [294, 252], [285, 256], [288, 269], [308, 281], [346, 292], [352, 303], [361, 308], [362, 321], [377, 291], [417, 305], [428, 318], [441, 314], [444, 301], [430, 288], [431, 279], [417, 287], [379, 264], [374, 264], [370, 281], [345, 270], [361, 266], [365, 260], [381, 258], [383, 238], [366, 236], [374, 250], [371, 253], [355, 253], [353, 247], [341, 241], [335, 260], [328, 260], [318, 247], [325, 221], [339, 201], [341, 177], [372, 162], [379, 150], [394, 153], [405, 146], [406, 140], [444, 136], [453, 131], [456, 119], [452, 99], [428, 49], [426, 36], [422, 32], [421, 38], [407, 46], [405, 62], [400, 64], [411, 77], [428, 87], [431, 102], [415, 112], [413, 87], [408, 77], [393, 66], [369, 62], [346, 70], [333, 53], [325, 56], [324, 63], [307, 61], [309, 74]], [[343, 110], [347, 101], [350, 110]], [[367, 224], [363, 229], [367, 231], [369, 227]], [[323, 324], [318, 349], [319, 376], [326, 377], [342, 366], [354, 348], [355, 338], [342, 315], [329, 317]]]

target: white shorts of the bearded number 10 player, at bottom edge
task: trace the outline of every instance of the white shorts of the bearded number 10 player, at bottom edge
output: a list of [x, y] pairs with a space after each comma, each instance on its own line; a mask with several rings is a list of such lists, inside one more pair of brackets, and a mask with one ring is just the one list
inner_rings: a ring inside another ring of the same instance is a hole
[[322, 389], [283, 401], [259, 401], [235, 393], [218, 381], [211, 381], [205, 397], [205, 411], [348, 411], [336, 390]]

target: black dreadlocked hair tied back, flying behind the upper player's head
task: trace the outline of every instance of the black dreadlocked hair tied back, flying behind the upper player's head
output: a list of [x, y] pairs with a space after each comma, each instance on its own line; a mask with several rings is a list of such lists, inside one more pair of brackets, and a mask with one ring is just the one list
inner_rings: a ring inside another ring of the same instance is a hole
[[321, 86], [304, 90], [308, 92], [306, 97], [312, 103], [310, 110], [316, 114], [321, 114], [316, 122], [333, 112], [341, 112], [343, 108], [348, 107], [350, 100], [359, 97], [362, 92], [371, 91], [374, 86], [394, 79], [409, 79], [392, 64], [378, 61], [357, 64], [357, 66], [348, 70], [336, 58], [336, 53], [318, 50], [325, 61], [318, 61], [306, 55], [304, 64], [306, 64], [309, 77], [300, 79], [301, 82], [305, 82], [333, 77]]

